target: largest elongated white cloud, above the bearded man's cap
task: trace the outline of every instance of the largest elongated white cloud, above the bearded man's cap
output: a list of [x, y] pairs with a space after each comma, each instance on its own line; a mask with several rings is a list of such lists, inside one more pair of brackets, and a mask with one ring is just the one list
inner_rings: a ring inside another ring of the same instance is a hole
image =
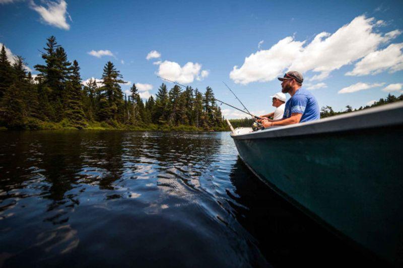
[[311, 80], [326, 78], [331, 71], [352, 64], [399, 34], [378, 33], [374, 18], [356, 17], [333, 34], [322, 32], [308, 43], [286, 37], [270, 49], [259, 50], [246, 57], [241, 67], [234, 66], [230, 77], [236, 83], [270, 81], [286, 70], [316, 72]]

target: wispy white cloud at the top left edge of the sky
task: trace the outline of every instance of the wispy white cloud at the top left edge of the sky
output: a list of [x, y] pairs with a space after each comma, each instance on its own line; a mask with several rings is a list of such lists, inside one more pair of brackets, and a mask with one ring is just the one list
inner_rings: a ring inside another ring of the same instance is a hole
[[31, 8], [39, 13], [43, 22], [60, 29], [69, 30], [70, 25], [66, 23], [67, 3], [64, 0], [58, 2], [45, 1], [44, 3], [47, 8], [36, 5], [33, 0], [30, 1]]

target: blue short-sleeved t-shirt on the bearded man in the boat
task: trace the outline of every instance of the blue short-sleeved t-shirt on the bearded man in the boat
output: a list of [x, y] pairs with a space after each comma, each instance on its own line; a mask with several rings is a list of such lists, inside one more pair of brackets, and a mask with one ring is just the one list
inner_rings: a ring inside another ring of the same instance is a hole
[[293, 113], [302, 114], [300, 123], [320, 119], [318, 102], [309, 91], [303, 88], [297, 90], [287, 101], [283, 119], [291, 117]]

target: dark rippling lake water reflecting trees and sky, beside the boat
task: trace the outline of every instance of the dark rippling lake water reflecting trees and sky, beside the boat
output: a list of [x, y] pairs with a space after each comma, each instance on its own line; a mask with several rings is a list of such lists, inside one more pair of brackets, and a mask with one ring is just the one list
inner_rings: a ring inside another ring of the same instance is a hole
[[371, 261], [261, 183], [229, 133], [0, 133], [0, 266]]

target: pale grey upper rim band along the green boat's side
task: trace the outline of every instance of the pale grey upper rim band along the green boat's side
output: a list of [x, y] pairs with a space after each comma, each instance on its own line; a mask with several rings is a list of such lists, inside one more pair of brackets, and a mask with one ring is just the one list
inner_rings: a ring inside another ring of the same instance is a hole
[[233, 139], [278, 138], [392, 126], [402, 123], [403, 101], [383, 105], [381, 107], [332, 116], [317, 121], [287, 126], [276, 126], [241, 135], [234, 135], [231, 133], [231, 137]]

